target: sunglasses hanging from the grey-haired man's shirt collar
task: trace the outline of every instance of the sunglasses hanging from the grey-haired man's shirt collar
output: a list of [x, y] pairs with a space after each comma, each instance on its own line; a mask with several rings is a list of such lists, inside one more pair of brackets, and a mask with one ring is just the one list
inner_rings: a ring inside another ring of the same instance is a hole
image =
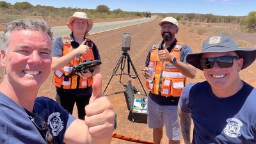
[[49, 127], [47, 127], [45, 120], [40, 115], [35, 113], [35, 116], [31, 118], [31, 122], [33, 122], [36, 128], [40, 130], [39, 132], [45, 138], [47, 144], [54, 143], [54, 137], [51, 133], [51, 130], [49, 129]]

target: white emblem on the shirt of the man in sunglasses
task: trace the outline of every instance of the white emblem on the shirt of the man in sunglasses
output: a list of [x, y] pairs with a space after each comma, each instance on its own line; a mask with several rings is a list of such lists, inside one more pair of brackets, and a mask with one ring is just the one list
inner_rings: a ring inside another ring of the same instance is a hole
[[243, 123], [240, 120], [237, 118], [228, 118], [226, 122], [228, 124], [223, 131], [225, 134], [227, 134], [227, 136], [231, 138], [237, 138], [238, 136], [241, 136], [240, 129], [243, 126]]

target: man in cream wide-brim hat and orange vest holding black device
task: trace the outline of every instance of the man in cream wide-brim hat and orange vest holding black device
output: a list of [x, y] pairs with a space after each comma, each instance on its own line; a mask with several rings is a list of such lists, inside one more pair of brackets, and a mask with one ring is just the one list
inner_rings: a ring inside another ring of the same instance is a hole
[[77, 72], [71, 77], [68, 74], [79, 63], [100, 60], [100, 55], [95, 43], [86, 37], [93, 26], [92, 19], [86, 13], [75, 12], [67, 26], [71, 34], [56, 38], [52, 49], [56, 101], [71, 114], [76, 102], [78, 117], [84, 119], [84, 107], [92, 95], [92, 76], [100, 72], [100, 66]]

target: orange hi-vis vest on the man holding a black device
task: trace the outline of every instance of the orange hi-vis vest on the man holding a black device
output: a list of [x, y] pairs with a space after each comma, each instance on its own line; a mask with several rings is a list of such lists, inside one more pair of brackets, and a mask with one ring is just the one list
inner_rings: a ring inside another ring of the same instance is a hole
[[[70, 35], [64, 35], [61, 37], [63, 43], [63, 52], [62, 56], [68, 54], [68, 52], [72, 51]], [[86, 38], [86, 41], [90, 42], [89, 38]], [[92, 49], [86, 54], [82, 54], [81, 56], [77, 56], [70, 63], [65, 65], [65, 67], [56, 70], [53, 75], [53, 84], [58, 88], [63, 89], [77, 89], [77, 88], [87, 88], [92, 86], [93, 78], [86, 78], [74, 75], [72, 77], [68, 77], [68, 74], [71, 72], [72, 67], [88, 60], [95, 60]]]

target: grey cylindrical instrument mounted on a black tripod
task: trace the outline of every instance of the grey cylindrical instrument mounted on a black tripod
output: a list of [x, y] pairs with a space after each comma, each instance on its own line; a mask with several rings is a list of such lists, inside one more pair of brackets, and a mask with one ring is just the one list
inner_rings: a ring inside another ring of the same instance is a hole
[[[122, 53], [122, 55], [120, 56], [120, 58], [119, 58], [119, 60], [118, 60], [118, 63], [116, 63], [115, 69], [114, 69], [113, 72], [112, 72], [112, 76], [111, 76], [111, 78], [109, 79], [109, 82], [108, 82], [108, 84], [107, 84], [107, 86], [106, 86], [106, 88], [105, 88], [105, 90], [104, 90], [103, 93], [106, 92], [106, 90], [107, 90], [107, 88], [108, 88], [108, 85], [109, 85], [109, 83], [111, 82], [111, 79], [113, 78], [113, 76], [118, 76], [118, 75], [120, 75], [119, 82], [120, 82], [123, 86], [125, 86], [125, 84], [122, 83], [121, 79], [122, 79], [122, 75], [125, 75], [125, 73], [124, 73], [124, 68], [125, 68], [125, 62], [126, 62], [126, 61], [127, 61], [127, 72], [128, 72], [127, 75], [129, 75], [129, 77], [131, 77], [132, 79], [138, 78], [138, 80], [140, 81], [140, 77], [139, 77], [139, 75], [138, 75], [138, 72], [136, 71], [136, 68], [134, 67], [134, 65], [133, 65], [133, 63], [132, 63], [132, 60], [131, 60], [131, 57], [130, 57], [130, 55], [129, 55], [129, 53], [128, 53], [128, 51], [130, 51], [130, 46], [131, 46], [131, 34], [130, 34], [130, 33], [124, 33], [124, 34], [123, 34], [123, 40], [122, 40], [122, 49], [121, 49], [121, 50], [123, 51], [123, 53]], [[130, 65], [132, 66], [132, 69], [133, 69], [133, 71], [134, 71], [134, 73], [135, 73], [135, 76], [132, 76], [131, 73], [130, 73]], [[121, 66], [121, 67], [120, 67], [120, 66]], [[121, 69], [121, 74], [116, 74], [116, 72], [117, 72], [117, 70], [118, 70], [119, 67], [120, 67], [120, 69]], [[145, 95], [147, 95], [147, 93], [146, 93], [146, 91], [145, 91], [145, 89], [144, 89], [143, 84], [141, 83], [141, 81], [140, 81], [140, 84], [141, 84], [141, 87], [143, 88], [143, 91], [145, 92]]]

